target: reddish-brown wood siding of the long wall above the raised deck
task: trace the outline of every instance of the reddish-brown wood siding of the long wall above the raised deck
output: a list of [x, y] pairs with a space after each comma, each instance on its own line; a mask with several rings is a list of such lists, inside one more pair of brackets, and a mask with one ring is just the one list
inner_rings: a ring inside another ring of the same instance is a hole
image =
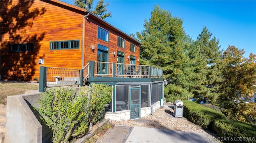
[[[95, 20], [92, 18], [92, 16], [88, 16], [88, 19], [85, 22], [85, 64], [88, 61], [96, 61], [97, 60], [97, 45], [104, 45], [109, 48], [108, 55], [109, 59], [108, 62], [110, 63], [116, 63], [116, 57], [117, 55], [113, 55], [113, 52], [122, 51], [125, 53], [124, 61], [125, 64], [130, 64], [130, 59], [128, 60], [127, 57], [130, 55], [134, 55], [136, 57], [136, 65], [139, 64], [137, 59], [139, 59], [140, 49], [138, 42], [132, 41], [128, 39], [125, 35], [122, 33], [118, 33], [114, 28], [110, 28], [106, 24], [102, 24], [99, 20]], [[109, 41], [103, 41], [101, 39], [98, 39], [98, 26], [105, 29], [106, 31], [109, 31]], [[124, 48], [117, 46], [117, 37], [121, 37], [125, 40], [125, 46]], [[130, 43], [133, 43], [136, 45], [136, 52], [130, 51]], [[90, 49], [90, 46], [94, 45], [94, 52]]]

